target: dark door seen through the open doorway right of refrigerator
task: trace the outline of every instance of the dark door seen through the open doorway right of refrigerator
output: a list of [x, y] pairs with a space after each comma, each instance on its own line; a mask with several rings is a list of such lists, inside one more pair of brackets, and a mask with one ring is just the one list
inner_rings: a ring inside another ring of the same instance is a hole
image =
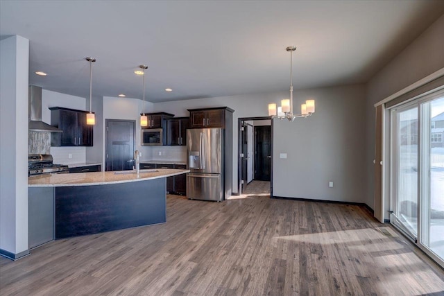
[[271, 126], [255, 126], [255, 180], [271, 180]]

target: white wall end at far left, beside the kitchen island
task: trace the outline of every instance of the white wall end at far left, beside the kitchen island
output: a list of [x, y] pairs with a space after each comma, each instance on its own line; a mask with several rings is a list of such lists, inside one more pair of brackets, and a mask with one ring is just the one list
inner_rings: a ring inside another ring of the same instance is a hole
[[28, 253], [29, 40], [0, 41], [0, 249]]

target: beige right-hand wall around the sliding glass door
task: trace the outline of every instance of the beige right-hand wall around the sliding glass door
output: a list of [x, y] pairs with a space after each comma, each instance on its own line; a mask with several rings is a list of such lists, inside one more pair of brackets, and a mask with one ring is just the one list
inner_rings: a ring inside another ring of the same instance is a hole
[[[444, 67], [444, 15], [381, 69], [367, 84], [365, 202], [373, 208], [375, 103]], [[388, 209], [388, 204], [386, 209]]]

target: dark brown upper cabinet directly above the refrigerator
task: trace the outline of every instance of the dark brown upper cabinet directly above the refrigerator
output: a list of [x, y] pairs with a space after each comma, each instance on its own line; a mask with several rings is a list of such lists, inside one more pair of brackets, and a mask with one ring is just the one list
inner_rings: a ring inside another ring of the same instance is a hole
[[229, 107], [189, 109], [189, 128], [225, 128], [234, 110]]

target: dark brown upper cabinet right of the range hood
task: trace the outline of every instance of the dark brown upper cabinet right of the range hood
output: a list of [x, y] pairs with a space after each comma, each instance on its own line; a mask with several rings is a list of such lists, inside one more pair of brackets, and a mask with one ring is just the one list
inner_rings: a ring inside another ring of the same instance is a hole
[[94, 125], [86, 124], [89, 112], [63, 107], [50, 107], [49, 110], [51, 125], [63, 130], [51, 133], [51, 146], [93, 146]]

